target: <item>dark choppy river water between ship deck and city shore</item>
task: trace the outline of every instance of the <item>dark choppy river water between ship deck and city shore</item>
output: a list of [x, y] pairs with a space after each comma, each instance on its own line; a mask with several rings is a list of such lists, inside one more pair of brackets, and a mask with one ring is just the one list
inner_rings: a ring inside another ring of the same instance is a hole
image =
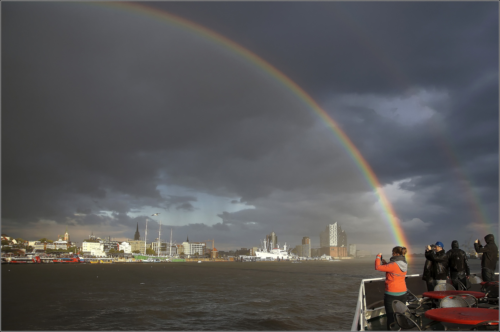
[[383, 276], [372, 259], [2, 265], [1, 330], [349, 330], [361, 279]]

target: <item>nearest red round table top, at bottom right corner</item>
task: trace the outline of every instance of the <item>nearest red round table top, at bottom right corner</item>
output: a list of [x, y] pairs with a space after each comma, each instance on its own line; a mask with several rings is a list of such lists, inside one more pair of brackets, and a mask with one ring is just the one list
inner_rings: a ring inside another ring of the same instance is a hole
[[424, 315], [433, 321], [466, 325], [498, 320], [498, 311], [484, 308], [438, 308], [427, 310]]

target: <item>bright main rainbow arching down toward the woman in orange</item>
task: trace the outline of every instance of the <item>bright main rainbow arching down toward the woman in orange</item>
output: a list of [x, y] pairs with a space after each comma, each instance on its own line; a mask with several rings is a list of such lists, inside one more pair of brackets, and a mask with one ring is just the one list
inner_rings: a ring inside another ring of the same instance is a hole
[[[88, 3], [88, 2], [87, 2]], [[316, 113], [319, 118], [331, 129], [334, 135], [341, 142], [342, 147], [347, 152], [348, 155], [353, 159], [357, 168], [361, 171], [362, 175], [369, 183], [369, 185], [373, 188], [375, 194], [378, 197], [380, 206], [384, 212], [384, 216], [386, 222], [392, 232], [392, 236], [394, 239], [394, 244], [408, 247], [408, 241], [406, 240], [405, 234], [399, 222], [399, 219], [394, 212], [389, 200], [385, 196], [381, 185], [371, 169], [366, 160], [361, 156], [359, 150], [354, 146], [352, 141], [347, 137], [347, 135], [340, 129], [338, 124], [331, 118], [328, 113], [326, 113], [315, 101], [312, 97], [307, 94], [300, 86], [298, 86], [295, 82], [293, 82], [290, 78], [284, 75], [282, 72], [274, 68], [271, 64], [252, 53], [248, 49], [242, 47], [241, 45], [233, 42], [226, 37], [207, 29], [204, 26], [191, 22], [182, 17], [178, 17], [172, 15], [163, 10], [159, 10], [156, 8], [147, 7], [145, 5], [133, 2], [93, 2], [99, 6], [107, 6], [112, 8], [121, 8], [127, 11], [132, 11], [135, 13], [141, 13], [150, 17], [153, 17], [158, 20], [168, 21], [168, 23], [172, 25], [179, 26], [183, 29], [192, 31], [195, 34], [201, 35], [206, 39], [219, 44], [232, 52], [242, 56], [247, 59], [249, 62], [256, 65], [261, 70], [265, 71], [272, 77], [274, 77], [277, 81], [279, 81], [283, 86], [289, 89], [291, 92], [295, 94], [302, 102], [304, 102], [314, 113]]]

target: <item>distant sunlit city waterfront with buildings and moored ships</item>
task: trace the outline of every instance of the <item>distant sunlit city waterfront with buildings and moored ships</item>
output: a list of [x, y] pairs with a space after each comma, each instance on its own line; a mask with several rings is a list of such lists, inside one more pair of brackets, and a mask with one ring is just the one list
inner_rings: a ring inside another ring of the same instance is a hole
[[[143, 236], [139, 224], [132, 239], [123, 241], [111, 236], [98, 237], [93, 232], [83, 239], [81, 245], [70, 240], [66, 225], [65, 233], [57, 235], [57, 240], [41, 238], [38, 241], [14, 239], [1, 235], [2, 264], [114, 264], [114, 263], [175, 263], [175, 262], [302, 262], [302, 261], [339, 261], [360, 257], [369, 257], [371, 252], [357, 250], [355, 244], [347, 245], [347, 234], [338, 224], [328, 224], [319, 233], [319, 247], [312, 245], [311, 239], [304, 236], [301, 243], [290, 246], [278, 241], [278, 235], [272, 231], [260, 240], [258, 246], [237, 250], [218, 251], [215, 240], [186, 240], [177, 243], [172, 239], [170, 228], [168, 240], [163, 240], [159, 224], [157, 238], [148, 241], [150, 236], [149, 220], [146, 219]], [[168, 233], [168, 232], [167, 232]]]

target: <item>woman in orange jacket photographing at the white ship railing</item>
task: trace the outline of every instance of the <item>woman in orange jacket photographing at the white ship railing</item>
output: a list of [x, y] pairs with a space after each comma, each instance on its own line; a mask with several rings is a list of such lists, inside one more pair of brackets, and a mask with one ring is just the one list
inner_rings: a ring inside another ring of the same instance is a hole
[[379, 253], [375, 258], [375, 270], [385, 272], [385, 293], [383, 295], [383, 306], [387, 315], [387, 330], [389, 325], [394, 322], [394, 311], [392, 311], [392, 301], [398, 300], [406, 303], [406, 271], [408, 264], [404, 258], [406, 248], [392, 248], [392, 257], [389, 263], [385, 262], [382, 254]]

